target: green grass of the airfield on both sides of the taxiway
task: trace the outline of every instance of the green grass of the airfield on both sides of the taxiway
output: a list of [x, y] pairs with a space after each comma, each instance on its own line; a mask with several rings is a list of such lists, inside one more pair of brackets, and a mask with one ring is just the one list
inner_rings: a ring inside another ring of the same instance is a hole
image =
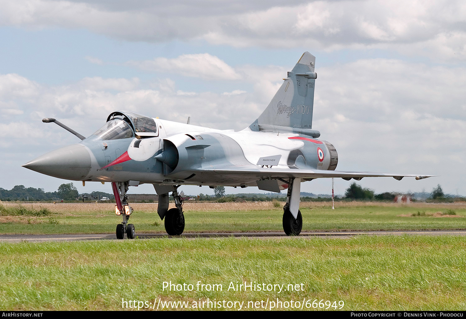
[[[133, 206], [137, 233], [164, 232], [157, 204]], [[186, 203], [185, 231], [282, 231], [282, 209], [275, 206]], [[0, 203], [0, 233], [113, 233], [120, 222], [113, 209]], [[464, 203], [350, 202], [336, 203], [335, 210], [329, 203], [302, 203], [301, 211], [308, 231], [466, 229]], [[465, 269], [466, 238], [460, 236], [0, 243], [0, 310], [464, 310]], [[192, 289], [164, 290], [170, 281]], [[245, 281], [284, 286], [281, 292], [228, 289]]]

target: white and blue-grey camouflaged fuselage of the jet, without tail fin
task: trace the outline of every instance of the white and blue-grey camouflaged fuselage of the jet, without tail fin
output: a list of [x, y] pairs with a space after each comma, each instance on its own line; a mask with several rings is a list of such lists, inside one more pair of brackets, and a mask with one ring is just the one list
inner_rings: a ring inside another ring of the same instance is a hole
[[[57, 154], [65, 156], [64, 153], [67, 153], [70, 157], [63, 159], [63, 162], [70, 163], [69, 167], [55, 168], [45, 173], [81, 181], [131, 180], [133, 183], [244, 187], [256, 186], [255, 178], [222, 177], [215, 169], [228, 165], [255, 165], [261, 157], [269, 156], [280, 156], [278, 162], [272, 161], [276, 167], [317, 170], [328, 170], [330, 167], [329, 143], [314, 137], [255, 132], [249, 128], [234, 132], [157, 118], [153, 120], [158, 125], [158, 136], [103, 140], [100, 136], [91, 135], [78, 144], [45, 154], [41, 156], [44, 160], [53, 158], [55, 162]], [[137, 142], [138, 147], [134, 147]], [[164, 147], [167, 148], [167, 144], [178, 152], [178, 159], [173, 163], [164, 163], [155, 158], [164, 151]], [[77, 150], [83, 154], [75, 154]], [[89, 156], [85, 153], [89, 153]], [[41, 157], [35, 161], [41, 162]], [[79, 159], [82, 163], [73, 163]], [[332, 168], [335, 169], [335, 166]], [[188, 173], [199, 168], [204, 171], [194, 176]]]

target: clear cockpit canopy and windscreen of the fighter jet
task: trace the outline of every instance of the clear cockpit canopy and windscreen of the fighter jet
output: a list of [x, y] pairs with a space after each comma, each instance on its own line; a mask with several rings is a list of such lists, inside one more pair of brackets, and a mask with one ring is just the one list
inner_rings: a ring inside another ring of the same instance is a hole
[[107, 123], [93, 135], [103, 140], [122, 138], [158, 136], [157, 124], [153, 118], [131, 111], [113, 112], [107, 118]]

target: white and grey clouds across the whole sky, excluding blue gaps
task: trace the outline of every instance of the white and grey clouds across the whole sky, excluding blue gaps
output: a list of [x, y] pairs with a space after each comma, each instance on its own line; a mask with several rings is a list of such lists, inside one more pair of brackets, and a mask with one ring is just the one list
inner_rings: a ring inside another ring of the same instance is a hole
[[[335, 144], [339, 169], [440, 174], [437, 180], [417, 181], [412, 187], [429, 185], [430, 190], [429, 183], [441, 183], [448, 185], [446, 191], [456, 193], [458, 188], [463, 194], [465, 16], [466, 4], [460, 0], [290, 0], [286, 4], [279, 0], [0, 0], [1, 26], [85, 28], [123, 41], [188, 41], [188, 45], [207, 41], [279, 50], [381, 49], [384, 54], [397, 51], [411, 56], [415, 62], [363, 59], [325, 68], [320, 68], [317, 56], [313, 127]], [[94, 54], [89, 51], [82, 56], [104, 65]], [[206, 87], [214, 80], [221, 83], [220, 90], [216, 87], [220, 93], [181, 86], [170, 78], [147, 83], [138, 78], [94, 76], [50, 85], [38, 77], [32, 81], [32, 75], [0, 75], [2, 153], [16, 156], [18, 162], [25, 153], [32, 158], [76, 142], [75, 136], [55, 124], [42, 123], [43, 117], [56, 117], [89, 135], [117, 109], [179, 122], [191, 116], [193, 124], [243, 129], [260, 115], [291, 67], [228, 65], [220, 55], [207, 53], [172, 59], [161, 55], [128, 64], [209, 80]], [[424, 57], [430, 63], [418, 63], [426, 61]], [[401, 187], [392, 180], [364, 179], [364, 183]], [[404, 179], [405, 183], [411, 185]]]

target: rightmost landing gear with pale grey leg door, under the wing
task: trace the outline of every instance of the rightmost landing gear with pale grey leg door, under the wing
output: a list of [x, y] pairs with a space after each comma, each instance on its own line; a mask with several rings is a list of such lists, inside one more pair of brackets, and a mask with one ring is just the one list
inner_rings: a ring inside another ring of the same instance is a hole
[[301, 179], [290, 179], [288, 183], [287, 203], [283, 206], [283, 231], [288, 236], [298, 236], [302, 230], [302, 215], [299, 210]]

